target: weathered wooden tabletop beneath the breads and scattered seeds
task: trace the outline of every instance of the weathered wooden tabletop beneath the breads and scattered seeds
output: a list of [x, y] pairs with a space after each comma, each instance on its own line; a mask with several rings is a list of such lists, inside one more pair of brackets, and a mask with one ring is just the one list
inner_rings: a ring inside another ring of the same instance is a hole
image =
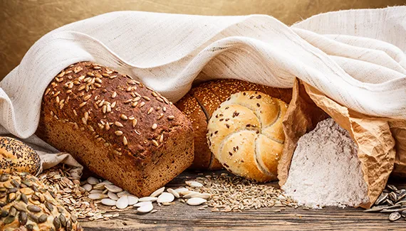
[[[205, 173], [206, 174], [206, 173]], [[187, 178], [197, 173], [186, 172], [175, 178], [167, 187], [184, 186]], [[391, 180], [399, 188], [406, 188], [405, 181]], [[277, 186], [277, 183], [271, 183]], [[387, 214], [363, 213], [362, 208], [323, 208], [303, 210], [286, 208], [260, 208], [241, 213], [211, 212], [210, 208], [197, 207], [176, 201], [174, 205], [157, 206], [157, 213], [139, 215], [135, 210], [120, 212], [111, 220], [82, 221], [85, 230], [406, 230], [406, 220], [390, 222]]]

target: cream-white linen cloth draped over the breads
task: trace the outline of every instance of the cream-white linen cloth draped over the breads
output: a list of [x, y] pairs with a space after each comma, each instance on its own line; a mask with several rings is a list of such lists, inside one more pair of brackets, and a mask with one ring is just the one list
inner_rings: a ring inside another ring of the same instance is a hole
[[264, 15], [112, 12], [51, 31], [28, 50], [0, 82], [0, 132], [33, 136], [48, 83], [84, 60], [173, 102], [194, 80], [292, 87], [298, 77], [355, 111], [406, 119], [405, 50], [406, 6], [330, 12], [291, 27]]

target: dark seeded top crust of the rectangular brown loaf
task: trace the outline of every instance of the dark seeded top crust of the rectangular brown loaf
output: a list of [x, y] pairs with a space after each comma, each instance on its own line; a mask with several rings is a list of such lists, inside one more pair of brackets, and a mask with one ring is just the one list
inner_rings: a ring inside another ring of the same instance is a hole
[[56, 119], [87, 129], [114, 154], [140, 161], [158, 150], [172, 127], [191, 127], [160, 93], [94, 63], [76, 63], [61, 71], [43, 100], [52, 103], [53, 108], [47, 110]]

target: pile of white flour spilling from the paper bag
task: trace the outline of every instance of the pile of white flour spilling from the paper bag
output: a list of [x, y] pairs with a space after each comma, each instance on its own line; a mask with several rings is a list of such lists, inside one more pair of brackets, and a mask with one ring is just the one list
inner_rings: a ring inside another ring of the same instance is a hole
[[357, 150], [348, 131], [333, 119], [319, 122], [299, 139], [282, 189], [299, 204], [313, 208], [368, 201]]

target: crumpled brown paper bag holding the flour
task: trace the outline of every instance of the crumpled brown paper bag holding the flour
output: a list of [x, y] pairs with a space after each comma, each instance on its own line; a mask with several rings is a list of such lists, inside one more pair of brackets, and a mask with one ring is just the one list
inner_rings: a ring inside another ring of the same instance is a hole
[[360, 207], [370, 208], [392, 171], [396, 176], [406, 176], [406, 121], [354, 112], [299, 80], [293, 86], [292, 101], [283, 119], [286, 141], [278, 167], [279, 185], [286, 183], [298, 139], [328, 116], [349, 131], [358, 145], [369, 197], [369, 202]]

